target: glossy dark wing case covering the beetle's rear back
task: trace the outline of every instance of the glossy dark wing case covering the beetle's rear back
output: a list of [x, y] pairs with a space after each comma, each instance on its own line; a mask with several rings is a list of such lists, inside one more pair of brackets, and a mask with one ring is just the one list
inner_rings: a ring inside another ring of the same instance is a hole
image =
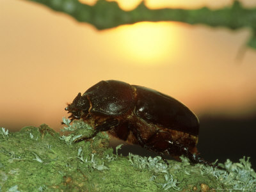
[[156, 90], [143, 86], [132, 86], [136, 88], [137, 92], [135, 109], [137, 116], [167, 129], [198, 136], [198, 118], [184, 104]]

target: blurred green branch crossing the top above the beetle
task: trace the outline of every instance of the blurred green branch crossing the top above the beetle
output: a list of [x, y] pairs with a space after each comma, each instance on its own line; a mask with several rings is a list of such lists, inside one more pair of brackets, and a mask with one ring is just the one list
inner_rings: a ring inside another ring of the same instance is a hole
[[116, 2], [99, 0], [94, 6], [82, 4], [77, 0], [28, 0], [45, 4], [52, 10], [67, 13], [79, 22], [87, 22], [97, 29], [115, 28], [124, 24], [141, 21], [179, 21], [188, 24], [222, 26], [230, 29], [250, 28], [252, 37], [248, 46], [256, 49], [256, 8], [244, 8], [239, 1], [232, 6], [211, 10], [207, 7], [196, 10], [164, 8], [150, 10], [142, 2], [132, 11], [125, 12]]

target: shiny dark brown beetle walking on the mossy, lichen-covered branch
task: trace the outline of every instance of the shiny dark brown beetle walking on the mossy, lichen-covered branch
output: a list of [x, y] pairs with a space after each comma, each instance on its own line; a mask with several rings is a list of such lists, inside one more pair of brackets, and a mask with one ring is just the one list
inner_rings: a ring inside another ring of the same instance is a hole
[[[100, 131], [180, 161], [183, 154], [191, 163], [213, 165], [199, 156], [199, 120], [178, 100], [144, 86], [122, 81], [100, 81], [81, 95], [78, 93], [65, 108], [70, 120], [82, 118], [94, 127], [92, 136], [82, 136], [75, 143], [88, 140]], [[216, 166], [218, 167], [218, 166]]]

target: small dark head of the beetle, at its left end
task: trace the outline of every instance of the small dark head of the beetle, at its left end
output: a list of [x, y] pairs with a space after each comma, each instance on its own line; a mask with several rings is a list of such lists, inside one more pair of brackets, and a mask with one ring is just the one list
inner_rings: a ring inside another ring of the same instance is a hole
[[79, 119], [83, 116], [88, 115], [89, 108], [90, 102], [87, 99], [86, 95], [82, 96], [81, 93], [78, 93], [72, 104], [68, 104], [65, 110], [68, 111], [68, 113], [72, 113], [72, 115], [68, 116], [68, 118], [71, 118], [72, 121], [74, 119]]

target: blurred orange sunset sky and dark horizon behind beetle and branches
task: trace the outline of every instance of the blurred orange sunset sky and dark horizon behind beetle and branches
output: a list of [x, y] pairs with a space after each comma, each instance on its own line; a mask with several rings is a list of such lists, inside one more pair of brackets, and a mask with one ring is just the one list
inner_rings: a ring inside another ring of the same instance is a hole
[[[93, 4], [95, 1], [81, 1]], [[141, 1], [118, 1], [132, 10]], [[145, 1], [149, 8], [221, 8], [233, 1]], [[241, 1], [255, 7], [256, 1]], [[139, 22], [98, 31], [22, 0], [0, 2], [0, 127], [61, 129], [78, 92], [101, 80], [146, 86], [180, 100], [200, 119], [209, 161], [250, 156], [256, 168], [256, 51], [250, 29]], [[111, 140], [115, 147], [119, 141]], [[121, 153], [148, 154], [125, 144]]]

